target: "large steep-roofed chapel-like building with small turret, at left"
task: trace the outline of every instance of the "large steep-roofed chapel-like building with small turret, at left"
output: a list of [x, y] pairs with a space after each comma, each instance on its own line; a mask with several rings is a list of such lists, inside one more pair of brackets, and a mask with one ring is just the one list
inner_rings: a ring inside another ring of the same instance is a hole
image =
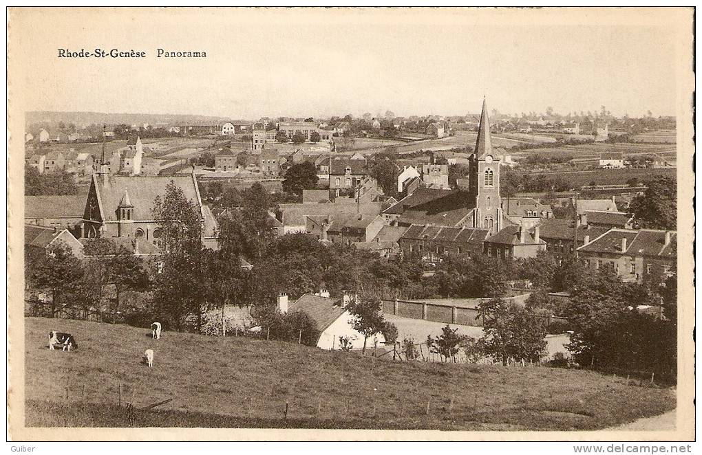
[[[208, 226], [216, 224], [209, 210], [205, 209], [194, 175], [187, 177], [131, 177], [110, 176], [102, 167], [93, 174], [83, 215], [81, 237], [144, 238], [160, 246], [163, 220], [154, 219], [152, 209], [157, 196], [163, 198], [166, 186], [173, 182], [199, 210], [204, 226], [203, 241], [208, 236]], [[212, 230], [212, 228], [210, 229]], [[210, 242], [211, 244], [211, 242]]]

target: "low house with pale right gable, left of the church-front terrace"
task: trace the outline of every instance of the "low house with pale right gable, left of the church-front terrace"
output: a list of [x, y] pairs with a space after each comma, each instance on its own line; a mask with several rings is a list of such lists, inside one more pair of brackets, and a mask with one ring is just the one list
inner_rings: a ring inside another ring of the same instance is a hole
[[371, 241], [383, 226], [385, 219], [377, 214], [316, 215], [307, 217], [306, 231], [319, 240], [351, 245]]

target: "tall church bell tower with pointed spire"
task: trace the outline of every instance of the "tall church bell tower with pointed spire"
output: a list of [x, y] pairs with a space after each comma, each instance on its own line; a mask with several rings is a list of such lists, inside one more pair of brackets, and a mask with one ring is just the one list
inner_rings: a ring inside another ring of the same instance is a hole
[[469, 158], [468, 195], [475, 204], [472, 226], [487, 229], [489, 235], [502, 229], [500, 198], [500, 158], [494, 155], [490, 137], [490, 118], [483, 99], [475, 151]]

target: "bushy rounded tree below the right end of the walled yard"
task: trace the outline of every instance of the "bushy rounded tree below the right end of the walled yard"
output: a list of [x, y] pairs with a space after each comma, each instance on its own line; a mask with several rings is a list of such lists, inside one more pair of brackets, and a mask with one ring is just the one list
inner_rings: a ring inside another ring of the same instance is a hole
[[538, 361], [546, 347], [546, 330], [537, 315], [503, 299], [481, 301], [479, 316], [484, 318], [485, 353], [500, 359]]

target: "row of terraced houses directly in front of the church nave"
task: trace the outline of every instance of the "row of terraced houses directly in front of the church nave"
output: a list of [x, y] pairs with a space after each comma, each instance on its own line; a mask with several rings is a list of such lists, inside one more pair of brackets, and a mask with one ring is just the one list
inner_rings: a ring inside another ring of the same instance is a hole
[[482, 253], [487, 233], [485, 229], [413, 224], [397, 241], [406, 257], [418, 255], [428, 262], [440, 262], [449, 255]]

